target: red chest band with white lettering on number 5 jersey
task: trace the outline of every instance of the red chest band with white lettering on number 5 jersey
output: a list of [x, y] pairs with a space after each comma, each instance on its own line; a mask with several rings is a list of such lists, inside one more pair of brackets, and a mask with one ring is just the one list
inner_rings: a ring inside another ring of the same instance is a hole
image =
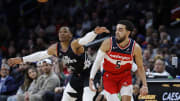
[[131, 54], [123, 54], [119, 52], [110, 52], [107, 54], [110, 58], [116, 60], [123, 60], [123, 61], [131, 61], [132, 55]]

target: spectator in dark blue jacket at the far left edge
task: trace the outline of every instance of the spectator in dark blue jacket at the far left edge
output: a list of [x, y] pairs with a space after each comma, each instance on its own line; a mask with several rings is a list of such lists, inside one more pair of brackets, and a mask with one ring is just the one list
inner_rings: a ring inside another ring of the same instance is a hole
[[7, 64], [1, 65], [0, 70], [0, 101], [6, 101], [8, 96], [16, 93], [15, 80], [9, 76], [10, 67]]

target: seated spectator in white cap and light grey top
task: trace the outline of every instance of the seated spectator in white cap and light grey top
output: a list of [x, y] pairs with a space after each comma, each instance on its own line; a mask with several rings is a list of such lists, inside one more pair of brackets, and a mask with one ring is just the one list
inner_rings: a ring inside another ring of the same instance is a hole
[[43, 101], [42, 96], [46, 91], [54, 91], [55, 87], [60, 85], [59, 78], [52, 71], [52, 61], [50, 59], [44, 59], [42, 64], [44, 74], [37, 79], [37, 86], [32, 86], [32, 91], [18, 96], [18, 101]]

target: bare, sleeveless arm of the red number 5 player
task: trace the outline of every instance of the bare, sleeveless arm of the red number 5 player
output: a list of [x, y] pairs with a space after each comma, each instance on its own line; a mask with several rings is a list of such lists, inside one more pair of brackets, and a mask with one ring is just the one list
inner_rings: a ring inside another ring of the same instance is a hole
[[148, 94], [148, 87], [147, 87], [147, 82], [146, 82], [146, 75], [145, 75], [145, 70], [143, 66], [143, 57], [142, 57], [142, 49], [141, 47], [136, 43], [134, 47], [134, 58], [137, 64], [137, 75], [142, 81], [142, 87], [140, 89], [140, 94], [141, 95], [147, 95]]

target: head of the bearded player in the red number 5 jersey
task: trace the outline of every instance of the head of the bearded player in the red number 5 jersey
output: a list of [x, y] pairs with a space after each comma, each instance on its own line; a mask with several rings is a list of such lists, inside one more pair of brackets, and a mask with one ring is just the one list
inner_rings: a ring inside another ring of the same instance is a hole
[[133, 31], [134, 25], [128, 20], [120, 20], [116, 26], [116, 40], [118, 43], [123, 42]]

